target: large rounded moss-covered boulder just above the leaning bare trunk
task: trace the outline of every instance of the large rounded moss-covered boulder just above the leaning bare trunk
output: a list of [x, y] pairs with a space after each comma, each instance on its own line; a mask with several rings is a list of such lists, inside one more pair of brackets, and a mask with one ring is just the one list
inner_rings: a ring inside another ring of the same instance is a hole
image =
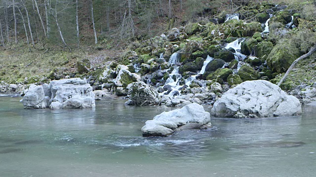
[[268, 56], [267, 64], [273, 72], [286, 72], [295, 59], [300, 57], [300, 51], [287, 42], [276, 45]]

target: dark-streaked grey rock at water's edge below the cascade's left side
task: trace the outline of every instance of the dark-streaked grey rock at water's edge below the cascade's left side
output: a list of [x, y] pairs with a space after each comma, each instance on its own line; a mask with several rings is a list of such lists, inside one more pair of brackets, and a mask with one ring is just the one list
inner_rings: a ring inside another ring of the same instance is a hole
[[134, 82], [126, 87], [128, 97], [135, 105], [158, 104], [158, 92], [156, 89], [144, 82]]

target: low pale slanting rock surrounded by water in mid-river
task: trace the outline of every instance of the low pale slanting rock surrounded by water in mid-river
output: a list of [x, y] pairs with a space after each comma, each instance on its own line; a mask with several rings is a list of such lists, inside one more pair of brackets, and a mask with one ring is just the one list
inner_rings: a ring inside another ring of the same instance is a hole
[[204, 111], [203, 106], [192, 103], [181, 109], [163, 112], [153, 120], [147, 120], [142, 132], [144, 137], [169, 136], [176, 128], [185, 128], [186, 125], [191, 128], [210, 127], [210, 114]]

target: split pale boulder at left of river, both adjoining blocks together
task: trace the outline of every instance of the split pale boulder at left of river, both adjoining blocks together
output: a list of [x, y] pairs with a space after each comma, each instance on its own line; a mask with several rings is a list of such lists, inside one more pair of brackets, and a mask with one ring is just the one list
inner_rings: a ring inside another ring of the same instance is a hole
[[95, 107], [92, 87], [79, 78], [51, 81], [49, 85], [31, 85], [21, 102], [26, 109]]

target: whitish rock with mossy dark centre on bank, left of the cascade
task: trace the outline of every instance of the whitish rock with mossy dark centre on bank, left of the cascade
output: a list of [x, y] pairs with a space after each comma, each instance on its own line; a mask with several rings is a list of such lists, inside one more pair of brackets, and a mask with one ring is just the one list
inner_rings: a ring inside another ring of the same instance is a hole
[[118, 76], [114, 80], [114, 84], [117, 87], [126, 88], [128, 84], [138, 82], [141, 79], [138, 74], [131, 73], [130, 71], [128, 71], [128, 67], [124, 65], [117, 66], [117, 73]]

